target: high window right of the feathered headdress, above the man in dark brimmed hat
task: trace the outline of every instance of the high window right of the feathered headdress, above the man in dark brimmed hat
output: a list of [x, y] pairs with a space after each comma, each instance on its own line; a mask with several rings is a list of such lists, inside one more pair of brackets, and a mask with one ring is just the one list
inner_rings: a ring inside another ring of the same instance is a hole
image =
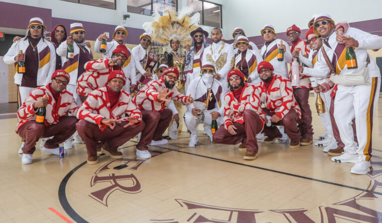
[[221, 5], [205, 0], [187, 0], [187, 7], [200, 13], [201, 25], [221, 28]]

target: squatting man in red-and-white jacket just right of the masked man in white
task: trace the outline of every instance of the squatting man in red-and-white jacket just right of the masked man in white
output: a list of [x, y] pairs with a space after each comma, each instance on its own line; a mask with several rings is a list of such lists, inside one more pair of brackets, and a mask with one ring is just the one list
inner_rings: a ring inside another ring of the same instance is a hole
[[244, 74], [240, 70], [228, 72], [227, 81], [230, 92], [224, 97], [224, 128], [220, 127], [213, 134], [215, 143], [240, 145], [246, 149], [246, 160], [255, 160], [259, 150], [256, 134], [263, 130], [266, 120], [261, 109], [261, 89], [244, 82]]

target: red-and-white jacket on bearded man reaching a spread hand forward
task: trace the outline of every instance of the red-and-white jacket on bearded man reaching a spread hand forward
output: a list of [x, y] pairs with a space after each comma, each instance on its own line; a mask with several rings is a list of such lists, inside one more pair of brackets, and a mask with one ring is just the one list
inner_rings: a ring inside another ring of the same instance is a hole
[[[167, 103], [164, 101], [159, 101], [157, 96], [159, 92], [166, 88], [165, 81], [163, 78], [159, 80], [152, 80], [146, 84], [146, 86], [138, 92], [138, 94], [133, 98], [133, 102], [138, 106], [140, 110], [147, 111], [158, 111], [162, 112], [167, 107]], [[173, 101], [178, 101], [186, 104], [187, 96], [181, 94], [176, 87], [169, 89], [171, 92], [168, 98]]]

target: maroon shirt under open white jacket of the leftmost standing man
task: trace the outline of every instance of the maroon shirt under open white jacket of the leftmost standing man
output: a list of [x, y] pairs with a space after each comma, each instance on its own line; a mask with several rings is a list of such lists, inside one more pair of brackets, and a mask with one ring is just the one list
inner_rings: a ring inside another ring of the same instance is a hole
[[20, 85], [22, 87], [37, 88], [37, 71], [39, 64], [37, 44], [40, 39], [41, 37], [38, 39], [28, 38], [26, 40], [29, 41], [29, 46], [25, 51], [25, 73], [22, 75]]

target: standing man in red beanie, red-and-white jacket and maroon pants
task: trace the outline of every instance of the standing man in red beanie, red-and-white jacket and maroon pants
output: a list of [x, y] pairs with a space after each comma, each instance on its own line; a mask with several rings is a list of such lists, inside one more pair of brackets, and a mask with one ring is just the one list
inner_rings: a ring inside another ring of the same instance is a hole
[[[290, 52], [297, 58], [298, 55], [308, 57], [310, 52], [309, 47], [306, 46], [305, 41], [301, 40], [300, 34], [300, 28], [294, 24], [286, 29], [286, 36], [292, 43]], [[295, 49], [299, 49], [299, 52], [295, 52]], [[289, 71], [289, 73], [291, 72], [292, 70]], [[308, 102], [310, 88], [309, 76], [300, 73], [300, 86], [293, 86], [293, 95], [301, 110], [301, 122], [298, 124], [302, 137], [301, 145], [310, 145], [313, 143], [312, 111], [310, 110]]]

